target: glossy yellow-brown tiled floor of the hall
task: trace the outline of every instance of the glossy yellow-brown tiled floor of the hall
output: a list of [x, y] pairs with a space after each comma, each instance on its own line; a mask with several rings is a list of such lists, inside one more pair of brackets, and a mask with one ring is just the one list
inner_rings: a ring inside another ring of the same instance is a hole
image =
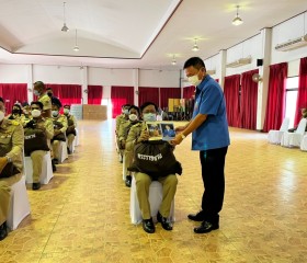
[[266, 135], [231, 128], [220, 229], [195, 235], [202, 181], [191, 137], [177, 147], [183, 165], [173, 231], [154, 235], [129, 218], [129, 188], [112, 122], [80, 122], [80, 146], [41, 191], [31, 216], [0, 242], [1, 263], [307, 262], [307, 152], [269, 145]]

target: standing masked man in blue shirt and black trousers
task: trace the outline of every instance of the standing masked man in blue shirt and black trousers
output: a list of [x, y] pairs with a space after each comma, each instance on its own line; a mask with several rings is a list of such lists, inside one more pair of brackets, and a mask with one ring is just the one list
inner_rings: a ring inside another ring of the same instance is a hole
[[192, 121], [177, 128], [171, 141], [179, 145], [192, 133], [192, 150], [200, 151], [204, 194], [202, 210], [190, 214], [189, 219], [202, 221], [194, 228], [206, 233], [219, 228], [219, 215], [225, 193], [225, 158], [230, 144], [226, 105], [220, 85], [206, 73], [204, 61], [198, 57], [187, 59], [183, 67], [189, 81], [196, 87]]

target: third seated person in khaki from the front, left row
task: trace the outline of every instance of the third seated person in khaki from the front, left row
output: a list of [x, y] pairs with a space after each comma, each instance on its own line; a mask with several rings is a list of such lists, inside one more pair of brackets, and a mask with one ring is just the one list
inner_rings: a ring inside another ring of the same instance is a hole
[[66, 141], [67, 118], [59, 113], [60, 106], [53, 104], [53, 123], [54, 123], [54, 137], [52, 139], [54, 163], [58, 164], [60, 159], [60, 141]]

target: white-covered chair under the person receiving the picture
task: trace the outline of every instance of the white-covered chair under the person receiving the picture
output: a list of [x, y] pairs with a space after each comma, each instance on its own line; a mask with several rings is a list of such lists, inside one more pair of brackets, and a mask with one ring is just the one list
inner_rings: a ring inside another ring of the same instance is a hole
[[[156, 219], [158, 214], [159, 207], [162, 202], [162, 184], [154, 181], [149, 187], [149, 204], [151, 210], [151, 217]], [[140, 224], [141, 222], [141, 213], [139, 209], [138, 198], [136, 194], [136, 183], [133, 176], [132, 181], [132, 188], [130, 188], [130, 218], [132, 224]], [[170, 210], [170, 218], [171, 221], [174, 221], [174, 201], [172, 202], [171, 210]]]

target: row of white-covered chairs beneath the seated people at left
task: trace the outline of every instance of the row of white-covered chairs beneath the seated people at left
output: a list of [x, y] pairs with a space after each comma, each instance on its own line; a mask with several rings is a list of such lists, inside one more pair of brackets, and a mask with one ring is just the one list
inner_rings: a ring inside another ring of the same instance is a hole
[[[78, 134], [73, 140], [71, 152], [75, 151], [75, 147], [79, 145]], [[67, 144], [61, 141], [60, 147], [60, 162], [68, 158]], [[31, 157], [24, 157], [23, 162], [23, 175], [21, 180], [11, 186], [11, 204], [9, 217], [7, 220], [8, 227], [11, 230], [15, 230], [20, 222], [31, 213], [30, 202], [26, 193], [26, 183], [33, 183], [33, 167]], [[48, 151], [43, 161], [43, 169], [41, 174], [41, 183], [48, 184], [54, 176], [50, 152]]]

